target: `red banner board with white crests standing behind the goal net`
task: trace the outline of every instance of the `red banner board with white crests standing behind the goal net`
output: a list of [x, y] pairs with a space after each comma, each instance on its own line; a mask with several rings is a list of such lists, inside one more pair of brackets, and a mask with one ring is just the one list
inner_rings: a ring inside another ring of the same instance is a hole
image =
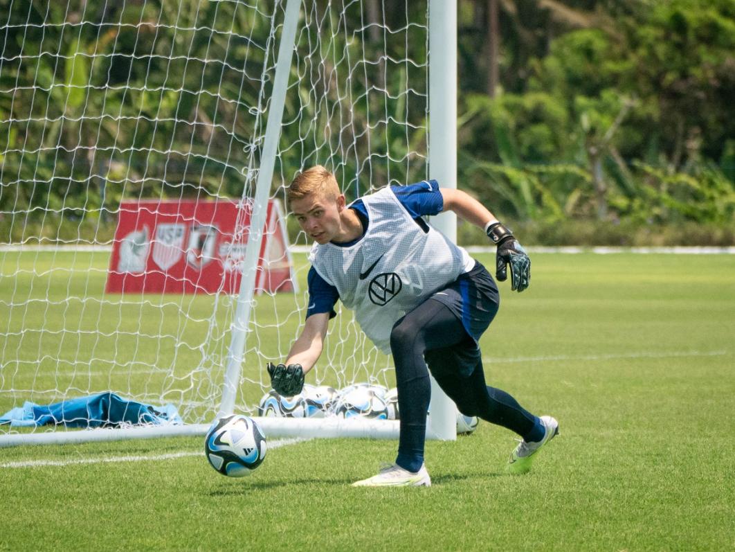
[[[126, 201], [112, 245], [107, 293], [226, 293], [240, 289], [252, 207], [248, 203]], [[281, 205], [268, 202], [257, 291], [294, 291]]]

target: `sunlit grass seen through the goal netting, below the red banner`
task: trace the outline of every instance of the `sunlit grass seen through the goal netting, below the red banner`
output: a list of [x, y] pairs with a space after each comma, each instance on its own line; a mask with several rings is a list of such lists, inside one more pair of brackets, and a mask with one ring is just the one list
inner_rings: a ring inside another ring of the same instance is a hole
[[[0, 412], [13, 400], [50, 403], [113, 390], [147, 403], [171, 402], [188, 422], [218, 407], [235, 302], [225, 294], [104, 294], [109, 252], [0, 253]], [[308, 266], [296, 275], [306, 288]], [[257, 405], [270, 389], [266, 361], [283, 358], [305, 310], [304, 294], [259, 294], [237, 404]], [[358, 333], [345, 311], [332, 324], [320, 381], [365, 381], [389, 359]], [[352, 328], [351, 328], [352, 326]], [[388, 386], [390, 378], [381, 378]], [[12, 392], [10, 392], [12, 390]]]

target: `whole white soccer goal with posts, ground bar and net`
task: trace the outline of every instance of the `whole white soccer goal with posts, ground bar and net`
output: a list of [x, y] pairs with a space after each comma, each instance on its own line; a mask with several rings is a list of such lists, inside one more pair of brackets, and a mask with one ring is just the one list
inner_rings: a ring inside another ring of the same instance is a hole
[[[348, 200], [455, 185], [453, 1], [21, 0], [0, 18], [0, 416], [110, 392], [183, 422], [0, 424], [0, 446], [256, 416], [265, 364], [306, 311], [306, 236], [284, 186], [318, 163]], [[454, 237], [449, 214], [432, 223]], [[341, 309], [307, 381], [391, 387], [392, 361]], [[398, 434], [329, 417], [262, 426]], [[454, 427], [434, 387], [428, 434]]]

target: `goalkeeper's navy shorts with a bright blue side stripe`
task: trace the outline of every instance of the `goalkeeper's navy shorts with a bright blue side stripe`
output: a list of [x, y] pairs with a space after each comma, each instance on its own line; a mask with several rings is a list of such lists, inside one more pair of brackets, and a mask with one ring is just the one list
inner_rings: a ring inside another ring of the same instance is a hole
[[481, 359], [480, 336], [498, 314], [500, 294], [495, 280], [481, 263], [476, 262], [470, 272], [436, 291], [429, 299], [442, 302], [452, 311], [462, 322], [467, 339], [451, 347], [426, 351], [426, 364], [434, 374], [452, 372], [469, 376]]

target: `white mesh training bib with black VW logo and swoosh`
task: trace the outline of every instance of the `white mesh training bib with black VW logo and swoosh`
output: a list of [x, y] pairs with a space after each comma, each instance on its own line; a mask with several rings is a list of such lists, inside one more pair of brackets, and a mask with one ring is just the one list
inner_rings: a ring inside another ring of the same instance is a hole
[[370, 221], [365, 236], [350, 247], [314, 244], [309, 261], [337, 288], [345, 307], [355, 311], [365, 335], [390, 354], [395, 322], [475, 261], [431, 226], [424, 232], [390, 187], [362, 202]]

